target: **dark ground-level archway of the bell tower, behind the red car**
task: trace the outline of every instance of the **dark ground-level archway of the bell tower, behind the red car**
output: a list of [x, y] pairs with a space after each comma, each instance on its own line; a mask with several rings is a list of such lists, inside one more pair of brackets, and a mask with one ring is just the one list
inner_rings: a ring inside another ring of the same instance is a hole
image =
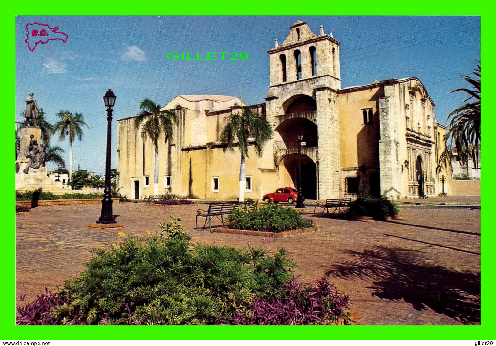
[[[305, 154], [301, 154], [302, 165], [302, 192], [307, 200], [317, 199], [317, 166], [311, 158]], [[295, 188], [298, 187], [298, 154], [289, 154], [284, 156], [281, 165], [285, 172], [289, 175], [291, 182]]]

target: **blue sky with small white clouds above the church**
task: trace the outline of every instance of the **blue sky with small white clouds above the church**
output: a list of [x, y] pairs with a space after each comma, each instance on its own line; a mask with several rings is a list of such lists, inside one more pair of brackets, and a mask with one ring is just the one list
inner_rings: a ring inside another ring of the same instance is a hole
[[[179, 94], [239, 95], [264, 102], [269, 57], [274, 39], [282, 42], [289, 26], [306, 21], [318, 34], [332, 31], [341, 43], [341, 86], [374, 79], [418, 77], [436, 103], [435, 117], [447, 115], [466, 98], [449, 91], [467, 86], [458, 73], [470, 74], [480, 60], [477, 16], [17, 16], [16, 121], [23, 118], [30, 91], [56, 121], [55, 113], [82, 113], [90, 129], [74, 143], [73, 167], [105, 171], [106, 112], [103, 95], [117, 95], [113, 122], [115, 167], [116, 119], [136, 115], [148, 97], [161, 105]], [[69, 36], [31, 52], [24, 40], [26, 24], [38, 22]], [[168, 52], [248, 52], [246, 61], [170, 61]], [[52, 139], [65, 149], [68, 142]], [[49, 165], [49, 169], [54, 168]]]

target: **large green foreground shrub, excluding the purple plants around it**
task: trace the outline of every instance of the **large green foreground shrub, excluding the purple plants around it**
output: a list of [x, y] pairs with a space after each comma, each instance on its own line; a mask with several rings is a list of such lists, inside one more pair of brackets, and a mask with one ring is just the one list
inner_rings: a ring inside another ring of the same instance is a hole
[[[70, 324], [218, 324], [246, 313], [253, 297], [282, 297], [286, 252], [193, 245], [179, 218], [160, 236], [129, 236], [93, 251], [87, 270], [59, 288], [67, 303], [51, 310]], [[120, 233], [124, 236], [124, 233]]]

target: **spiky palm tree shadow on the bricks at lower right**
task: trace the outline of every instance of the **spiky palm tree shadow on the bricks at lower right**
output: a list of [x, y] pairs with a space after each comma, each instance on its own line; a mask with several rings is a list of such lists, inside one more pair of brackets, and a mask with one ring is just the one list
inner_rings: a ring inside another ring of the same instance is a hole
[[420, 251], [374, 246], [336, 264], [327, 276], [372, 280], [372, 296], [404, 300], [417, 310], [433, 309], [463, 324], [480, 324], [481, 274], [426, 263]]

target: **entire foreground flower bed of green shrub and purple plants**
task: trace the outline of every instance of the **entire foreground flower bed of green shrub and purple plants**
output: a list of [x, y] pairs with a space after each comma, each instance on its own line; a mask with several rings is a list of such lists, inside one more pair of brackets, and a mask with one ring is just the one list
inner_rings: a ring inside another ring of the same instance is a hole
[[17, 324], [352, 323], [348, 296], [325, 279], [299, 283], [284, 249], [192, 244], [179, 220], [145, 238], [119, 232], [122, 243], [94, 250], [87, 270], [18, 306]]

